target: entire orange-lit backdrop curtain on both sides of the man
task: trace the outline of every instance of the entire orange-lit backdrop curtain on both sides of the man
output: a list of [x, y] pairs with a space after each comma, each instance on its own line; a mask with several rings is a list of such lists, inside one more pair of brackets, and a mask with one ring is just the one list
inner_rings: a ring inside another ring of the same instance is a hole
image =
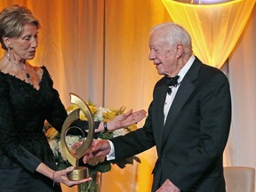
[[[40, 20], [39, 46], [30, 63], [48, 68], [66, 107], [68, 93], [75, 92], [99, 107], [148, 108], [161, 77], [148, 60], [149, 31], [172, 20], [161, 0], [1, 0], [0, 9], [11, 4], [28, 6]], [[228, 61], [234, 132], [228, 165], [256, 167], [255, 14], [254, 7]], [[139, 156], [141, 164], [104, 173], [101, 191], [150, 191], [156, 149]]]

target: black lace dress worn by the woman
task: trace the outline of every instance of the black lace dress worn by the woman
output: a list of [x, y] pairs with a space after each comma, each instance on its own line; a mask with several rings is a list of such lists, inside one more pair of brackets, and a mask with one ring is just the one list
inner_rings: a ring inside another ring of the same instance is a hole
[[67, 117], [47, 69], [39, 90], [19, 78], [0, 72], [0, 191], [48, 192], [52, 180], [36, 172], [41, 163], [57, 170], [44, 136], [46, 119], [59, 132]]

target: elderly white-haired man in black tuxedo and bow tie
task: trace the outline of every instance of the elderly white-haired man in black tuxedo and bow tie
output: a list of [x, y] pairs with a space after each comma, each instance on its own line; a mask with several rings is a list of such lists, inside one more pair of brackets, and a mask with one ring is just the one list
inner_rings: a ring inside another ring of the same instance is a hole
[[224, 192], [222, 156], [231, 121], [227, 77], [193, 55], [191, 37], [177, 24], [153, 28], [149, 60], [163, 75], [142, 128], [93, 142], [93, 156], [122, 159], [156, 146], [152, 191]]

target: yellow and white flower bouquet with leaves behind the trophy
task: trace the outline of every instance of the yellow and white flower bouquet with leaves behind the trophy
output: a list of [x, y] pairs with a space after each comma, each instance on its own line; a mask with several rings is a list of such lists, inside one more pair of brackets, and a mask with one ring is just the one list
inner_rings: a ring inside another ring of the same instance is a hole
[[[94, 105], [92, 102], [88, 102], [86, 103], [87, 106], [90, 108], [91, 112], [92, 112], [92, 116], [93, 116], [93, 120], [94, 121], [100, 121], [100, 122], [107, 122], [112, 120], [113, 118], [115, 118], [115, 116], [118, 116], [122, 113], [124, 113], [125, 107], [121, 107], [121, 108], [97, 108], [96, 105]], [[67, 108], [67, 113], [70, 114], [72, 111], [74, 111], [76, 108], [79, 108], [78, 106], [76, 106], [75, 104], [71, 104], [68, 108]], [[84, 116], [84, 113], [82, 110], [80, 110], [80, 119], [87, 121], [87, 117]], [[119, 135], [124, 135], [127, 132], [132, 132], [134, 130], [137, 129], [137, 125], [136, 124], [132, 124], [130, 126], [124, 127], [122, 129], [117, 129], [113, 132], [100, 132], [99, 134], [97, 134], [97, 140], [108, 140], [114, 137], [117, 137]], [[68, 166], [70, 166], [71, 164], [68, 163], [68, 160], [66, 158], [66, 156], [63, 155], [62, 152], [62, 148], [61, 148], [61, 144], [60, 144], [60, 132], [57, 132], [52, 126], [51, 124], [45, 122], [44, 124], [44, 133], [45, 136], [48, 139], [49, 145], [52, 148], [52, 153], [55, 156], [55, 161], [56, 164], [58, 165], [59, 169], [64, 169]], [[76, 135], [66, 135], [66, 142], [68, 145], [68, 148], [71, 148], [71, 146], [78, 142], [83, 140], [83, 138], [81, 136], [76, 136]], [[112, 162], [108, 162], [108, 161], [104, 161], [100, 164], [97, 164], [95, 166], [92, 165], [87, 165], [86, 166], [89, 168], [89, 174], [92, 177], [92, 181], [88, 182], [88, 183], [84, 183], [83, 185], [80, 185], [79, 187], [79, 191], [96, 191], [96, 184], [97, 182], [95, 181], [96, 176], [98, 175], [98, 173], [103, 173], [103, 172], [108, 172], [111, 170], [111, 164], [116, 164], [117, 166], [119, 166], [121, 169], [123, 169], [125, 167], [126, 164], [133, 164], [133, 161], [136, 161], [138, 163], [140, 163], [140, 158], [137, 156], [131, 156], [129, 158], [120, 160], [120, 161], [112, 161]]]

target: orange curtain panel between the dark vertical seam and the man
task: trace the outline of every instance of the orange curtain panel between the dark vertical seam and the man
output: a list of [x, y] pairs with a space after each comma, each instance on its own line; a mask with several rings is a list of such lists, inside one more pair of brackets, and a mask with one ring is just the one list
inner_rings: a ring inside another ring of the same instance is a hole
[[[148, 109], [153, 87], [161, 77], [148, 60], [149, 31], [167, 20], [170, 16], [161, 1], [106, 0], [107, 107]], [[124, 170], [114, 166], [104, 173], [101, 191], [150, 191], [156, 149], [140, 154], [140, 160], [141, 164], [128, 165]]]

